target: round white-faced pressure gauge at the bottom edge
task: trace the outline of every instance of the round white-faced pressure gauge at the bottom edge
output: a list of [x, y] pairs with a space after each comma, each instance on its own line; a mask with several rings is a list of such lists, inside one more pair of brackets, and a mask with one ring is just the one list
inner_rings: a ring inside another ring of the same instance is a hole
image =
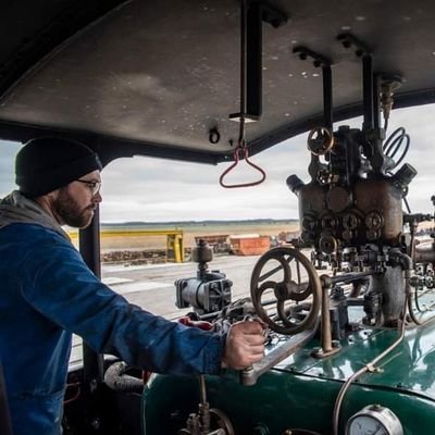
[[403, 435], [403, 428], [388, 408], [369, 405], [348, 420], [346, 435]]

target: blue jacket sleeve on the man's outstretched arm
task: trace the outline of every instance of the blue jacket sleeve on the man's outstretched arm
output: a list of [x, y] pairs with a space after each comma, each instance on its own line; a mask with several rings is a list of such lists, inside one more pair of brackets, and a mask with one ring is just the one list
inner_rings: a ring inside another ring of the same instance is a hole
[[26, 256], [21, 289], [35, 310], [98, 352], [158, 373], [220, 371], [224, 336], [128, 303], [101, 283], [66, 241], [38, 246]]

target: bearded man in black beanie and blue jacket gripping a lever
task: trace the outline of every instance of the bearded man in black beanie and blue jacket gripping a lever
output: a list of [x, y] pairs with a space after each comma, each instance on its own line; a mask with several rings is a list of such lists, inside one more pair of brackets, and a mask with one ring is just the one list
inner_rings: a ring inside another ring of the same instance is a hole
[[59, 435], [71, 337], [159, 373], [217, 374], [263, 355], [257, 322], [226, 336], [129, 304], [86, 266], [62, 225], [84, 228], [101, 202], [101, 163], [65, 139], [27, 142], [0, 202], [0, 360], [15, 435]]

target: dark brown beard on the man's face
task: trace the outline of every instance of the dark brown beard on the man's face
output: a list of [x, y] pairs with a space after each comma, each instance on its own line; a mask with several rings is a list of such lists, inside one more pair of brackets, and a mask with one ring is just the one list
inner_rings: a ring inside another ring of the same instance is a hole
[[67, 188], [61, 188], [58, 198], [52, 202], [52, 208], [66, 225], [74, 228], [86, 228], [94, 217], [96, 204], [91, 203], [80, 208]]

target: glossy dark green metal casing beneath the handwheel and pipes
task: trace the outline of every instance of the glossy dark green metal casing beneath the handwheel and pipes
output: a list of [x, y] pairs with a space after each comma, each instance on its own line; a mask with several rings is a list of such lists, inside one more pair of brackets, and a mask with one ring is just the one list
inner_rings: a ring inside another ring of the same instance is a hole
[[[233, 423], [236, 435], [281, 435], [303, 428], [333, 433], [333, 410], [344, 382], [368, 364], [399, 336], [391, 330], [360, 330], [343, 339], [337, 355], [314, 359], [308, 346], [243, 386], [238, 374], [207, 377], [210, 407]], [[279, 346], [279, 341], [270, 347]], [[347, 391], [339, 413], [339, 435], [347, 420], [366, 405], [389, 408], [401, 421], [405, 435], [435, 433], [435, 326], [413, 327], [405, 340]], [[144, 433], [171, 435], [198, 412], [197, 377], [156, 375], [142, 396]]]

